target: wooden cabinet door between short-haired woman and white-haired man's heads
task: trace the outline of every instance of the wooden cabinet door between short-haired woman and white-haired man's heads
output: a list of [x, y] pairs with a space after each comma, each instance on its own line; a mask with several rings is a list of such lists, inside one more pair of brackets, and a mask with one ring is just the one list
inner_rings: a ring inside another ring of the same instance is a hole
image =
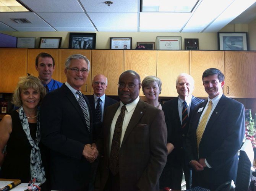
[[157, 77], [162, 81], [160, 96], [178, 96], [176, 79], [181, 73], [189, 74], [190, 51], [158, 50], [157, 51]]

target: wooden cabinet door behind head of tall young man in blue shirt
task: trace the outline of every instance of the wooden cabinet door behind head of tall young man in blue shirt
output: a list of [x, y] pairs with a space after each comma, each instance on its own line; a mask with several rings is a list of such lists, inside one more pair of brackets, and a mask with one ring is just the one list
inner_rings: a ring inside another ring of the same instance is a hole
[[59, 70], [59, 50], [58, 49], [28, 49], [28, 73], [38, 77], [38, 71], [36, 71], [36, 57], [39, 53], [45, 52], [54, 58], [55, 69], [52, 74], [52, 78], [58, 80]]

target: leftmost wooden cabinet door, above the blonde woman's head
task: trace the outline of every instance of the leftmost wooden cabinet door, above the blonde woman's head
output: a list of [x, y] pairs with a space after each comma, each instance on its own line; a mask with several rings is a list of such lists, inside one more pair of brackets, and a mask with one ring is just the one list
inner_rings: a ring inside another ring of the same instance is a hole
[[14, 91], [19, 77], [27, 75], [28, 49], [0, 49], [0, 92]]

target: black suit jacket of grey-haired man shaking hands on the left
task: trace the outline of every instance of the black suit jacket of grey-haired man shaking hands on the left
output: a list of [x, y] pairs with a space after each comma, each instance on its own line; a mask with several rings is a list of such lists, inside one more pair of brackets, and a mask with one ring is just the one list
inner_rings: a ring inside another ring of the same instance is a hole
[[40, 107], [42, 142], [50, 149], [51, 189], [76, 190], [87, 185], [91, 164], [82, 156], [84, 145], [92, 143], [84, 114], [70, 89], [63, 84], [43, 99]]

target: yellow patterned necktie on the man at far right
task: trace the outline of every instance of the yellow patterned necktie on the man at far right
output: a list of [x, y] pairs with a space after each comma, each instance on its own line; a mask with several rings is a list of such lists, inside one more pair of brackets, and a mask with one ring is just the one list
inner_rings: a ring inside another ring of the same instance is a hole
[[[199, 149], [199, 144], [201, 142], [203, 133], [204, 133], [204, 129], [206, 127], [206, 122], [208, 120], [208, 117], [211, 113], [212, 110], [212, 100], [209, 101], [208, 107], [206, 112], [204, 113], [204, 116], [202, 117], [197, 129], [196, 129], [196, 139], [197, 139], [197, 149]], [[198, 150], [198, 156], [199, 156], [199, 150]]]

